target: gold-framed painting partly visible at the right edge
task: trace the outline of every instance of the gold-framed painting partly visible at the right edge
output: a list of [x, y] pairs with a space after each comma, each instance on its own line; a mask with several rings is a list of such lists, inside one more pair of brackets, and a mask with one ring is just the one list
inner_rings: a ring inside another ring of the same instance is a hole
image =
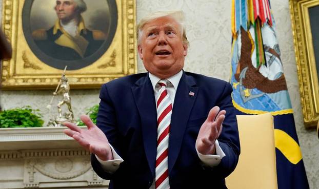
[[307, 128], [319, 120], [319, 0], [290, 0], [298, 80]]

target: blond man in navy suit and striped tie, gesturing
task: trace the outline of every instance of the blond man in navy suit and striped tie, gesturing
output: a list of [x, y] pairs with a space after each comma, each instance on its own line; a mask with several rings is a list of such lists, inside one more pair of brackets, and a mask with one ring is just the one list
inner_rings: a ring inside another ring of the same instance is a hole
[[109, 188], [227, 188], [240, 154], [232, 88], [182, 70], [183, 19], [181, 11], [142, 19], [138, 54], [148, 73], [102, 86], [98, 127], [87, 116], [88, 130], [65, 123]]

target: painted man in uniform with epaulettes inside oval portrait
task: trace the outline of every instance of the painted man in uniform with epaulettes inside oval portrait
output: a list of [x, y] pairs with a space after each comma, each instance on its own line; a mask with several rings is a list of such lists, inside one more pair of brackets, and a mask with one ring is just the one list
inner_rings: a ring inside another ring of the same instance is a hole
[[106, 35], [90, 31], [81, 14], [87, 9], [83, 0], [56, 0], [58, 19], [49, 30], [32, 32], [36, 45], [45, 54], [60, 60], [76, 60], [92, 55], [102, 46]]

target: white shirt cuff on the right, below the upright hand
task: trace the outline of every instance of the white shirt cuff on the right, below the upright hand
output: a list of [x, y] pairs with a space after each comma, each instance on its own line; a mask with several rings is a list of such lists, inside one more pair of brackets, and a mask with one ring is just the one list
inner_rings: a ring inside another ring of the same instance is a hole
[[[196, 140], [197, 142], [197, 140]], [[215, 149], [216, 149], [216, 155], [204, 155], [198, 152], [197, 148], [196, 148], [196, 144], [195, 144], [195, 149], [197, 152], [198, 157], [201, 159], [201, 161], [208, 165], [208, 166], [217, 166], [218, 164], [220, 164], [220, 162], [222, 161], [222, 158], [226, 156], [226, 154], [223, 152], [220, 144], [218, 143], [218, 140], [215, 141]]]

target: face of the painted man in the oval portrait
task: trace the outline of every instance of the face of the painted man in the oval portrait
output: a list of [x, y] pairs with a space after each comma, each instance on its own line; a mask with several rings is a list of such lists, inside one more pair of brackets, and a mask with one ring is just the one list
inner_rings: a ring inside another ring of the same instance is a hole
[[76, 4], [73, 0], [57, 0], [54, 9], [57, 17], [63, 21], [69, 21], [77, 16]]

